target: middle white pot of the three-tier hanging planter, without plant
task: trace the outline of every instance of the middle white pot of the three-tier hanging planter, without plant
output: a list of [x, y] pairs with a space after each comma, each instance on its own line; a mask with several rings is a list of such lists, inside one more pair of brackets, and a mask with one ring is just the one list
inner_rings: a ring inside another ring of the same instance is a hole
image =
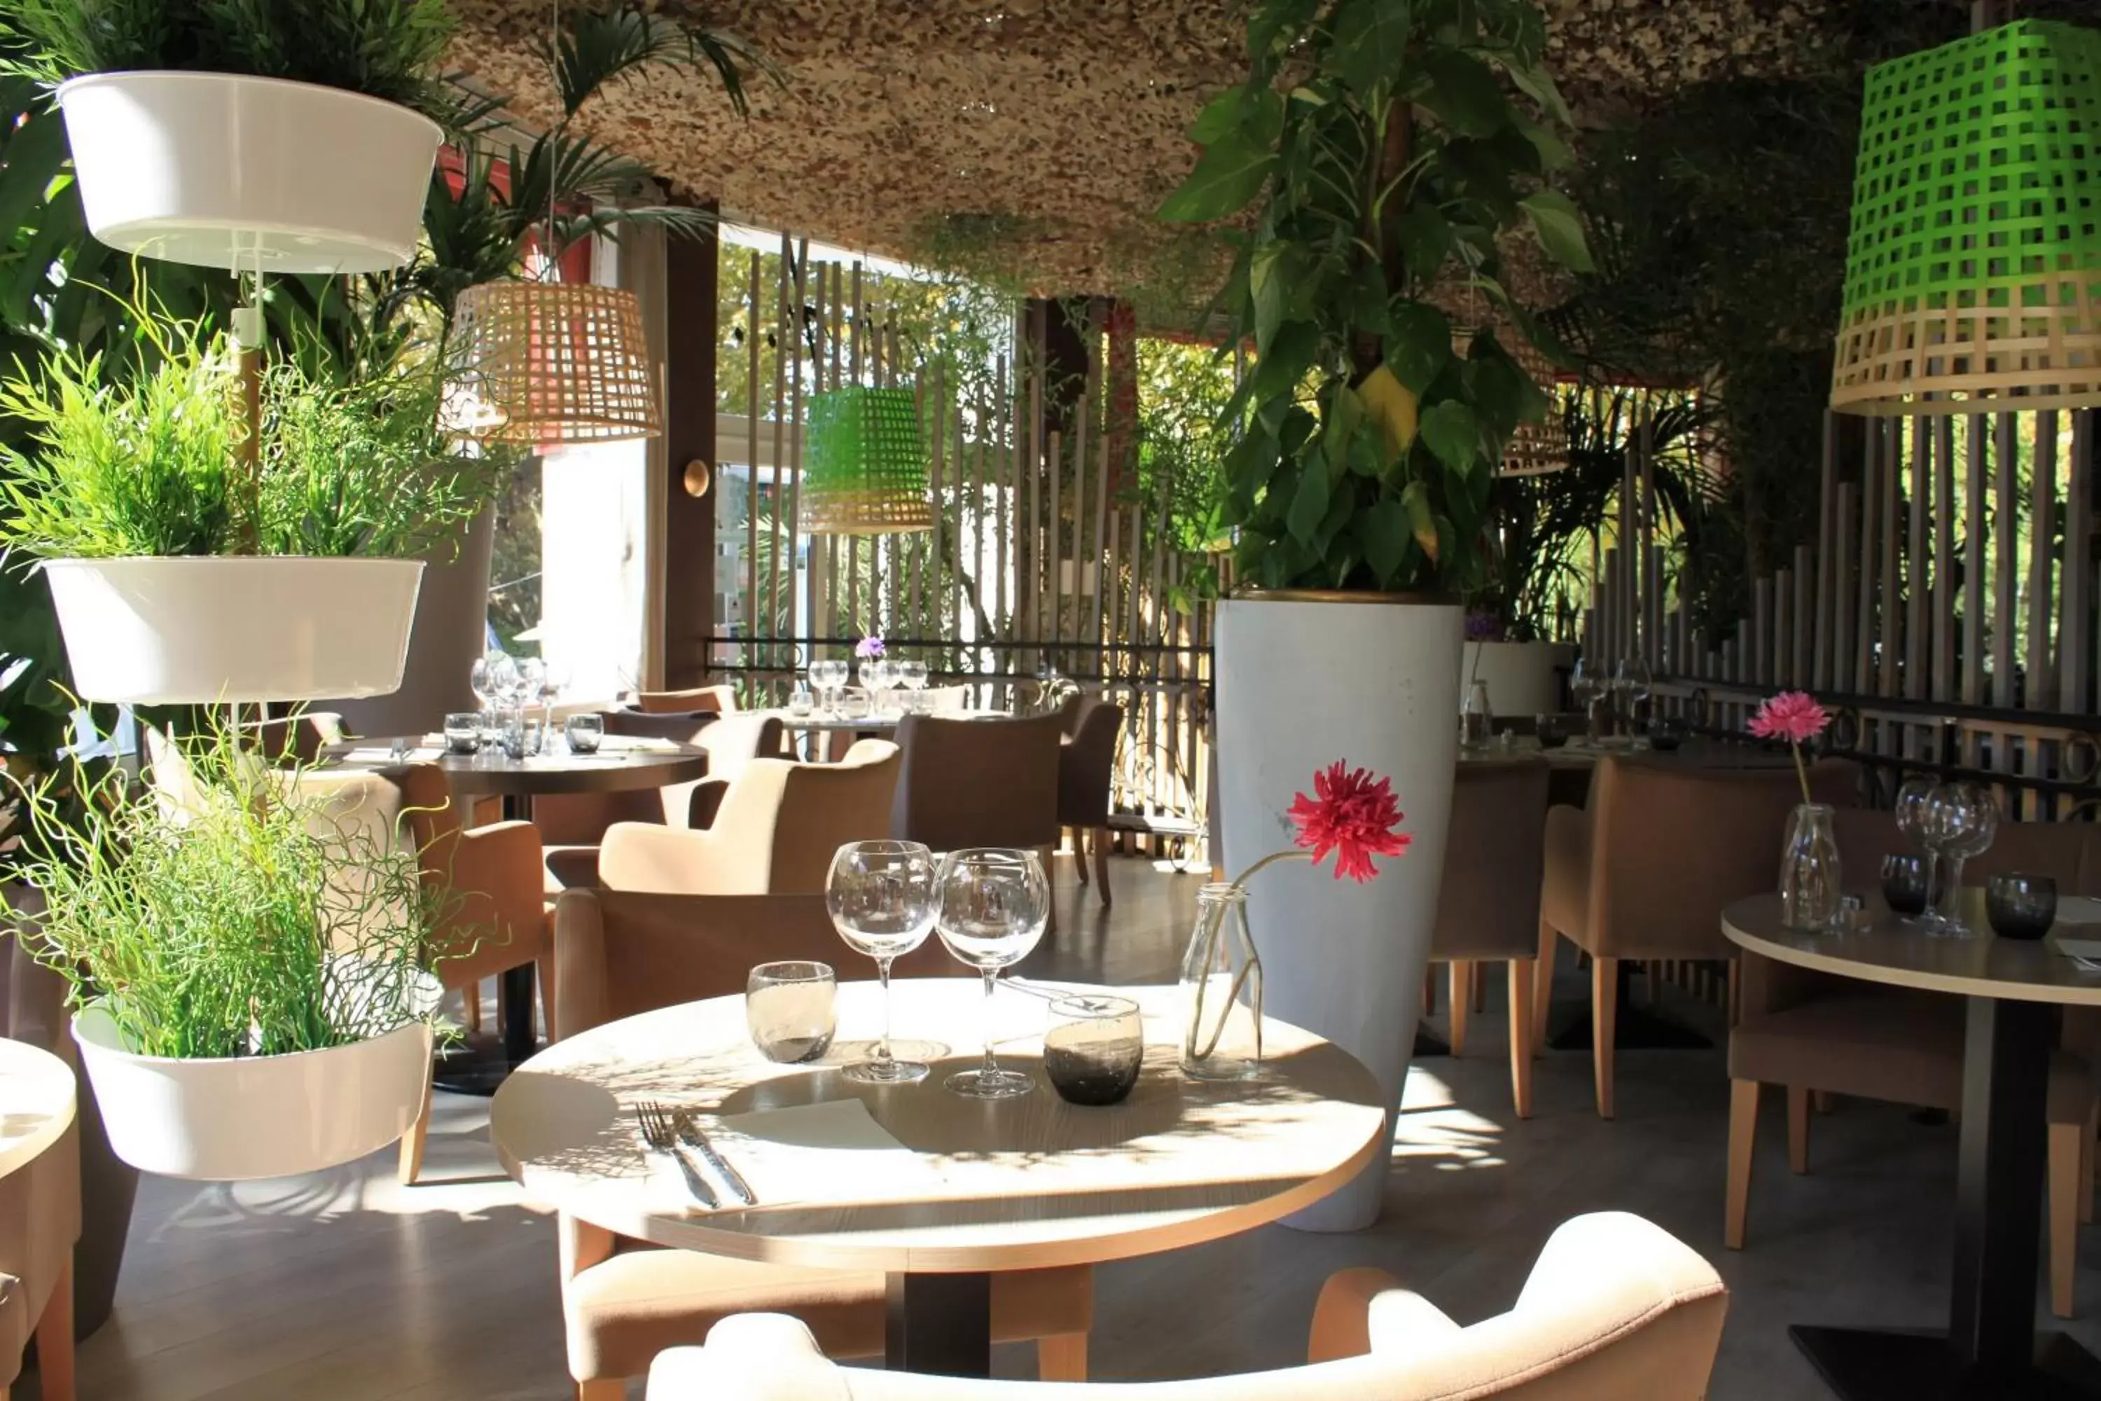
[[84, 699], [210, 706], [397, 689], [422, 561], [53, 559], [44, 576]]

